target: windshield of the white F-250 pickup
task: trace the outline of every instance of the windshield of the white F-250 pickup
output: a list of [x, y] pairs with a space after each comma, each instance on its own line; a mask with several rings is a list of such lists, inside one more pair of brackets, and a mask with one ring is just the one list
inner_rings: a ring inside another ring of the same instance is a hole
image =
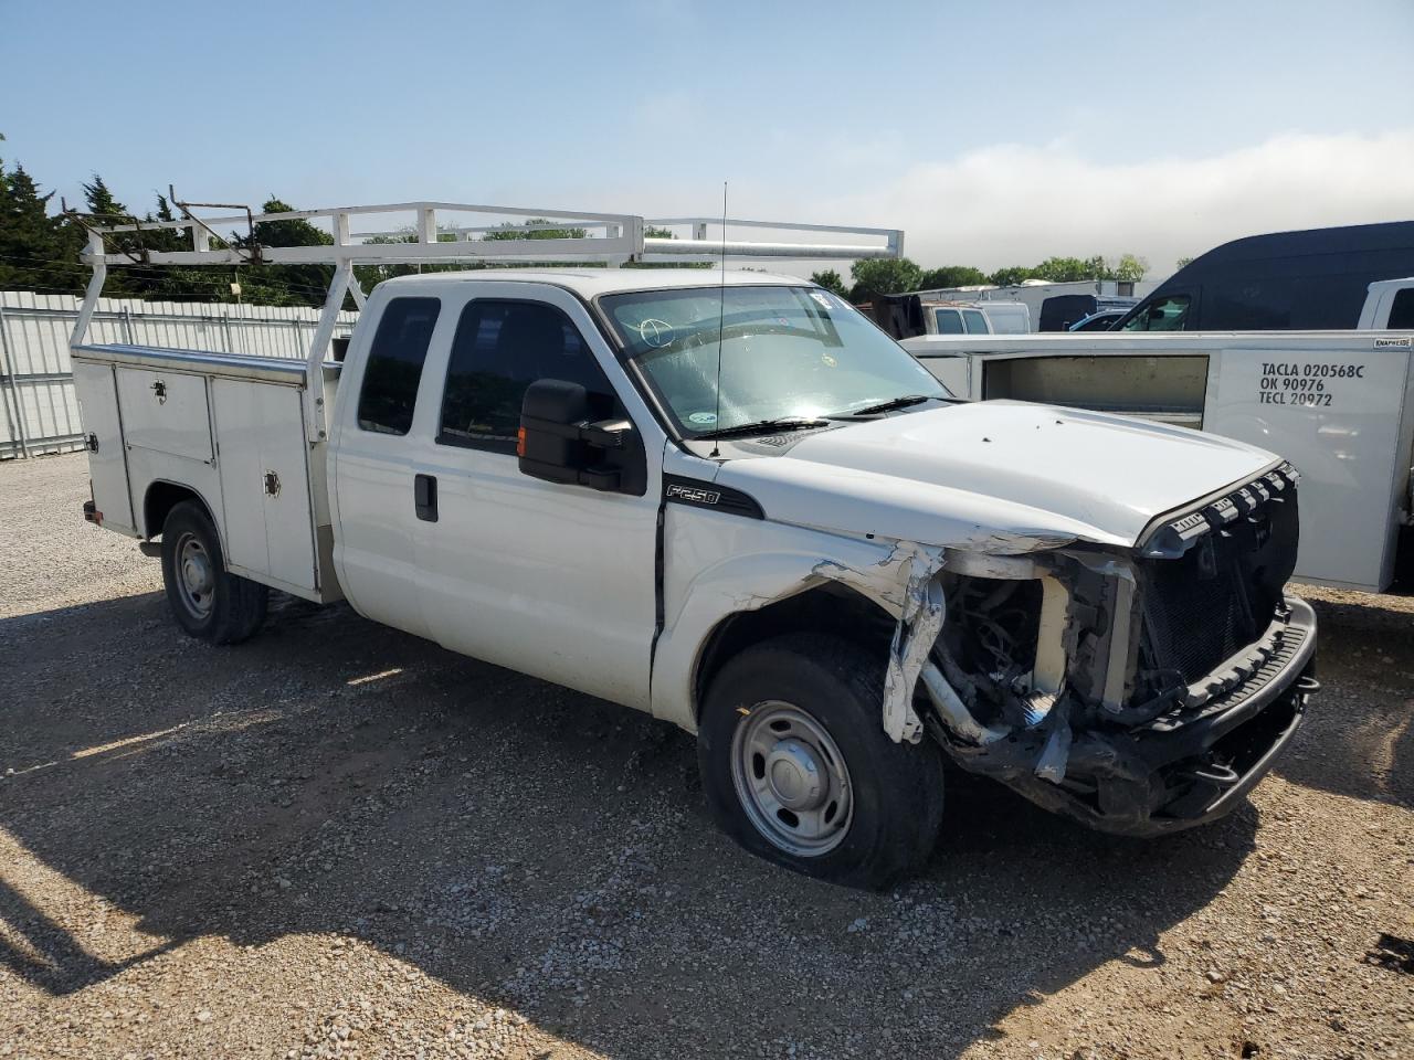
[[908, 394], [949, 396], [894, 339], [817, 287], [633, 291], [600, 304], [687, 437], [847, 416]]

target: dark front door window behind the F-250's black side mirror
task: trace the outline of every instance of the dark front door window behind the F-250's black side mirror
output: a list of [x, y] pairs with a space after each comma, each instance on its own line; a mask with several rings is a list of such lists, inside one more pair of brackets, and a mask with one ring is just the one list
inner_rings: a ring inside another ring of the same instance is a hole
[[513, 454], [520, 401], [539, 379], [614, 396], [578, 329], [553, 305], [467, 302], [451, 342], [438, 444]]

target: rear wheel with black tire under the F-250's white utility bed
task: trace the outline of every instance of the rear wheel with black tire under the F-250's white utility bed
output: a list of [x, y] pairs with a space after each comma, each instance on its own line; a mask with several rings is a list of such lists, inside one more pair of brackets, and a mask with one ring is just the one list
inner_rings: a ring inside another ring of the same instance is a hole
[[[184, 578], [188, 563], [206, 577]], [[174, 506], [163, 523], [163, 585], [177, 625], [199, 640], [239, 644], [264, 623], [270, 591], [226, 571], [221, 536], [192, 500]]]

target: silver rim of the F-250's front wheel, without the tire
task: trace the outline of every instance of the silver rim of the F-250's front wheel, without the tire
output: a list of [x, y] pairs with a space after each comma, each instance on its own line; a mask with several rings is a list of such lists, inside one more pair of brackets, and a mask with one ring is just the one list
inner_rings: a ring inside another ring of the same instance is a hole
[[789, 702], [759, 702], [737, 724], [731, 779], [751, 824], [800, 858], [839, 847], [854, 818], [844, 755], [824, 726]]

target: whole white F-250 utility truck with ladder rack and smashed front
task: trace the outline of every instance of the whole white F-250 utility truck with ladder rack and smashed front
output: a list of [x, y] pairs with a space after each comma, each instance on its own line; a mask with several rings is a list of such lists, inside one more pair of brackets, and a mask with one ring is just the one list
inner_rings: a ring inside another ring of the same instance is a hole
[[[337, 264], [307, 362], [92, 346], [81, 318], [88, 517], [161, 555], [192, 636], [252, 636], [269, 588], [345, 598], [696, 734], [727, 832], [871, 888], [932, 849], [945, 762], [1159, 835], [1240, 804], [1299, 726], [1315, 618], [1282, 588], [1280, 457], [957, 401], [840, 298], [758, 271], [396, 278], [327, 359], [354, 261], [721, 249], [584, 213], [551, 223], [607, 235], [452, 243], [444, 206], [407, 208], [413, 243], [361, 242], [351, 208], [298, 215], [332, 246], [259, 247]], [[250, 253], [209, 246], [229, 222], [182, 223], [192, 249], [150, 261]], [[89, 304], [130, 230], [92, 230]], [[724, 246], [898, 253], [885, 236]]]

